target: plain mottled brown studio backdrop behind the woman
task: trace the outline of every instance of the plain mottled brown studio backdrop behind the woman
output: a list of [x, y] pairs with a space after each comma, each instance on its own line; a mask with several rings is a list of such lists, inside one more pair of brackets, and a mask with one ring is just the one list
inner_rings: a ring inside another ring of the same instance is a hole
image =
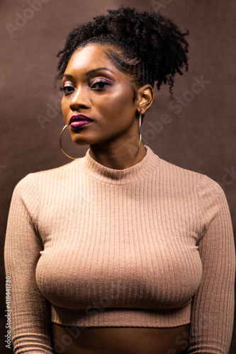
[[[189, 72], [176, 79], [175, 102], [166, 86], [155, 89], [142, 137], [162, 159], [220, 183], [236, 226], [234, 0], [1, 0], [1, 353], [11, 354], [4, 343], [3, 250], [13, 188], [30, 172], [71, 161], [59, 146], [64, 121], [53, 89], [55, 55], [69, 30], [121, 4], [159, 10], [189, 28]], [[88, 146], [78, 149], [69, 135], [63, 139], [68, 152], [84, 156]]]

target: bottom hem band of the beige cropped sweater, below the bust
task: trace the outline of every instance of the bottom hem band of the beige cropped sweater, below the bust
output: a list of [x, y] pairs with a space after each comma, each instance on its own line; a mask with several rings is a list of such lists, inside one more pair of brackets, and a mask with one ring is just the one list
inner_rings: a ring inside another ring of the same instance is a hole
[[51, 304], [51, 321], [82, 327], [176, 327], [190, 323], [191, 302], [180, 309], [64, 309]]

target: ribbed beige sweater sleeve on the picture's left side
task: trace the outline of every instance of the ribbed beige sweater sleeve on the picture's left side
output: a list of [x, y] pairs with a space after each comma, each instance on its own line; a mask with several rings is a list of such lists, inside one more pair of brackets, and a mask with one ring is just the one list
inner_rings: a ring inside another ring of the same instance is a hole
[[13, 190], [4, 248], [6, 276], [11, 277], [11, 341], [16, 354], [52, 353], [50, 303], [35, 280], [43, 250], [37, 212], [38, 188], [30, 173]]

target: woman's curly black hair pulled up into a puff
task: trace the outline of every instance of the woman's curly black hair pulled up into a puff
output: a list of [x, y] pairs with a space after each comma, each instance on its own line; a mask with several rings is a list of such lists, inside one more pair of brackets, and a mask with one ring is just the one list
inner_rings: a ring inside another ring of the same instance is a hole
[[[135, 8], [120, 6], [117, 10], [107, 10], [108, 14], [95, 16], [94, 21], [83, 23], [67, 36], [64, 49], [57, 53], [56, 79], [61, 79], [72, 54], [89, 43], [109, 45], [104, 50], [111, 62], [130, 76], [136, 88], [145, 84], [157, 89], [162, 84], [172, 87], [176, 72], [189, 69], [186, 53], [189, 44], [186, 35], [177, 25], [158, 12], [138, 12]], [[137, 98], [132, 86], [134, 97]]]

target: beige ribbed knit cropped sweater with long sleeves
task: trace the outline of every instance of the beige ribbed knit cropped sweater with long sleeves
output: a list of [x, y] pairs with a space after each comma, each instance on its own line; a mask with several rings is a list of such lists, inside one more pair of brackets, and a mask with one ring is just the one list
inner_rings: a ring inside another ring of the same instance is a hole
[[235, 244], [225, 194], [147, 154], [128, 169], [86, 156], [29, 173], [6, 231], [15, 353], [52, 353], [66, 326], [191, 324], [188, 353], [226, 354]]

